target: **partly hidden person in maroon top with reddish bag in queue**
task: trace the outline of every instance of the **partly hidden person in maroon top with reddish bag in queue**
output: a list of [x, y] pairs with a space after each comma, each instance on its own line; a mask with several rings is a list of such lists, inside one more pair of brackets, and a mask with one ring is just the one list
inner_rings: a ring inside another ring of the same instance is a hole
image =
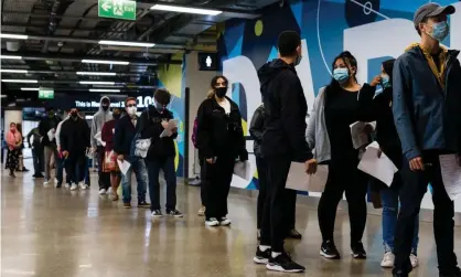
[[104, 162], [103, 162], [103, 172], [110, 173], [110, 185], [111, 185], [111, 200], [118, 201], [118, 193], [117, 189], [120, 184], [121, 180], [121, 172], [118, 168], [117, 163], [117, 155], [114, 151], [114, 138], [115, 138], [115, 129], [117, 128], [117, 124], [121, 117], [121, 109], [114, 108], [112, 110], [112, 118], [111, 120], [107, 121], [103, 126], [103, 130], [100, 132], [101, 140], [106, 143], [104, 147], [105, 155], [104, 155]]

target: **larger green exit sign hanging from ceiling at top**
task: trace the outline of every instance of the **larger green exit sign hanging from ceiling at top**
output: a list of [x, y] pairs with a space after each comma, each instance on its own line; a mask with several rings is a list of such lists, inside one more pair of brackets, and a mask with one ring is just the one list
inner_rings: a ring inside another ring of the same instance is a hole
[[98, 0], [99, 18], [136, 20], [136, 1]]

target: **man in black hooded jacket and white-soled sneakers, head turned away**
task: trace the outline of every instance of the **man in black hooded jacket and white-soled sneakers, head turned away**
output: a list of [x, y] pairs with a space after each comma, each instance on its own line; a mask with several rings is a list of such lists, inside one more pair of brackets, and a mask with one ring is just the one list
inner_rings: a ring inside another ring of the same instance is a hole
[[278, 38], [279, 58], [258, 71], [265, 107], [265, 132], [261, 149], [267, 169], [267, 193], [264, 201], [260, 245], [254, 262], [269, 270], [301, 273], [305, 268], [294, 263], [283, 248], [287, 235], [287, 211], [296, 201], [296, 191], [286, 189], [291, 162], [305, 163], [311, 173], [311, 149], [305, 141], [308, 105], [296, 65], [301, 62], [301, 38], [285, 31]]

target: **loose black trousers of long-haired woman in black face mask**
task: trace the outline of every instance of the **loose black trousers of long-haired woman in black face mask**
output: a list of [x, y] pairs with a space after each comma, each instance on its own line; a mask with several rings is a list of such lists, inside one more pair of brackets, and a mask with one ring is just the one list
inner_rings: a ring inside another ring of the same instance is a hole
[[234, 157], [217, 157], [214, 164], [210, 164], [205, 161], [205, 216], [207, 220], [212, 217], [219, 220], [227, 215], [227, 196], [230, 190], [234, 166]]

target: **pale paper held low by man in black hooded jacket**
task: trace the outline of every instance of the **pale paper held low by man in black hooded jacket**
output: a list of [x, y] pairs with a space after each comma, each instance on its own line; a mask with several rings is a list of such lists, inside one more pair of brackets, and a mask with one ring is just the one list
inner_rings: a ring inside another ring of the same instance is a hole
[[285, 188], [297, 191], [323, 192], [328, 178], [328, 166], [318, 166], [315, 174], [309, 175], [303, 162], [291, 162]]

